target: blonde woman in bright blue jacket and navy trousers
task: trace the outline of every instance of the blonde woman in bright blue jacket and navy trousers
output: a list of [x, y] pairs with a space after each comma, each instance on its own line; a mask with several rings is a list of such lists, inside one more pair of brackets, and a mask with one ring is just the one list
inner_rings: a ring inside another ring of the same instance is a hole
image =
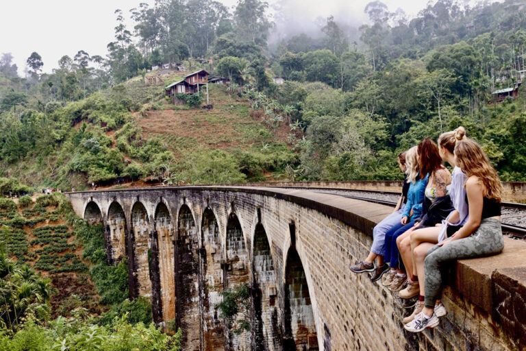
[[[400, 269], [398, 265], [398, 247], [396, 239], [399, 234], [414, 226], [414, 220], [420, 217], [422, 213], [425, 186], [429, 179], [429, 174], [422, 171], [422, 164], [418, 161], [418, 146], [412, 147], [408, 150], [406, 160], [408, 165], [408, 181], [410, 181], [408, 202], [403, 209], [401, 220], [386, 232], [385, 239], [385, 260], [389, 262], [391, 271], [382, 284], [389, 287], [392, 291], [398, 291], [401, 289], [401, 285], [406, 280], [405, 272]], [[402, 229], [403, 231], [401, 231]]]

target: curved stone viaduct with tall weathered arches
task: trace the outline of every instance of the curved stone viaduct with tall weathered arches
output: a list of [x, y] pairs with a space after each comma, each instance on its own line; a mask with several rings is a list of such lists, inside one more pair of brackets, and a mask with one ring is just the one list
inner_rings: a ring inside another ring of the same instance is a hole
[[[499, 310], [516, 303], [503, 291], [517, 284], [505, 285], [513, 275], [498, 272], [494, 262], [490, 267], [459, 263], [460, 278], [444, 292], [449, 316], [434, 330], [405, 334], [399, 301], [366, 274], [349, 270], [368, 252], [373, 226], [392, 211], [387, 206], [307, 189], [249, 186], [66, 196], [77, 215], [103, 224], [108, 263], [127, 262], [130, 298], [151, 298], [155, 322], [175, 321], [183, 331], [183, 350], [514, 350], [523, 345], [521, 318], [526, 316]], [[516, 243], [507, 241], [505, 269], [519, 265], [510, 255], [526, 245]], [[224, 322], [217, 308], [221, 292], [237, 287], [248, 288], [249, 313], [238, 320], [245, 320], [249, 331], [239, 322]], [[523, 297], [526, 293], [517, 295]], [[506, 321], [512, 330], [503, 331]]]

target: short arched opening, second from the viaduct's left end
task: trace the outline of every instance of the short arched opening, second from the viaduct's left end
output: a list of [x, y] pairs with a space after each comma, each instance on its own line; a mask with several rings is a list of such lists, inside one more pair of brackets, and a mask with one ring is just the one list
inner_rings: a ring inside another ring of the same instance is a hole
[[112, 202], [108, 208], [108, 226], [106, 227], [106, 250], [108, 262], [118, 264], [126, 255], [126, 217], [118, 202]]

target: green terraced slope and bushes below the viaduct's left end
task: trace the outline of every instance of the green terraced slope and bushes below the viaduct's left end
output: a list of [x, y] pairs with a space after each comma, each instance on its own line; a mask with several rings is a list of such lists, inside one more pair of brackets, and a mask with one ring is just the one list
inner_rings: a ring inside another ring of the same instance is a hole
[[101, 226], [64, 195], [0, 198], [0, 219], [0, 350], [179, 350], [147, 298], [127, 299], [127, 263], [106, 263]]

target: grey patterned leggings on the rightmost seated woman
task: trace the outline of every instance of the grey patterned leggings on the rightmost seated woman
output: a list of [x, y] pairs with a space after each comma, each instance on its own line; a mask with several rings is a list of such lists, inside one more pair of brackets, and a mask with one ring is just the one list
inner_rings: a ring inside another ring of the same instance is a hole
[[501, 221], [491, 218], [482, 219], [479, 228], [469, 237], [444, 246], [431, 247], [424, 261], [425, 306], [435, 306], [442, 288], [440, 268], [444, 263], [499, 254], [503, 248]]

